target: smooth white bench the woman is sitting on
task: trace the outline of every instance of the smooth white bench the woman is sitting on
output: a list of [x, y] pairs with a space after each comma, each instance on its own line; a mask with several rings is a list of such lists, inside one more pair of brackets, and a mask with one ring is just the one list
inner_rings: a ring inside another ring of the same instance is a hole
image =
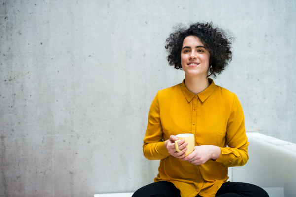
[[[260, 133], [247, 133], [249, 160], [228, 170], [230, 181], [264, 188], [270, 197], [296, 197], [296, 144]], [[131, 197], [133, 193], [95, 194], [94, 197]]]

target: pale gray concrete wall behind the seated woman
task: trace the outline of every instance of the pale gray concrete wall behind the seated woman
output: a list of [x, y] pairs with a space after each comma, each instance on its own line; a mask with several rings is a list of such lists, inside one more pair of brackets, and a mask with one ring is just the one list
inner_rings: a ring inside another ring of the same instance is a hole
[[142, 153], [157, 90], [182, 82], [178, 22], [236, 36], [215, 83], [247, 131], [296, 143], [295, 0], [0, 0], [0, 196], [92, 197], [153, 181]]

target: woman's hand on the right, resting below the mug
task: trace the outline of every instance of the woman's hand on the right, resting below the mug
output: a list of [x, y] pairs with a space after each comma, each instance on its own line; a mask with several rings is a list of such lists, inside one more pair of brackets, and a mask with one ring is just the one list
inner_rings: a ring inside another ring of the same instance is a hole
[[188, 161], [193, 165], [202, 165], [210, 158], [216, 160], [221, 154], [221, 149], [214, 145], [195, 146], [194, 151], [182, 158], [182, 161]]

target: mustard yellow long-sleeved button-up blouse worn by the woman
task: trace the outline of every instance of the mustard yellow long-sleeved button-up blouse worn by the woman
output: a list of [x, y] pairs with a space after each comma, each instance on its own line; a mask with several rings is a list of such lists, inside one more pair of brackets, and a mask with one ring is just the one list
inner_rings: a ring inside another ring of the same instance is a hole
[[[248, 145], [242, 106], [236, 95], [209, 79], [210, 86], [195, 95], [181, 84], [157, 92], [152, 101], [143, 153], [160, 160], [157, 181], [170, 181], [181, 197], [215, 197], [229, 178], [228, 167], [248, 160]], [[215, 161], [193, 165], [171, 156], [164, 147], [170, 135], [192, 133], [195, 146], [215, 145], [221, 154]], [[226, 147], [228, 145], [228, 147]]]

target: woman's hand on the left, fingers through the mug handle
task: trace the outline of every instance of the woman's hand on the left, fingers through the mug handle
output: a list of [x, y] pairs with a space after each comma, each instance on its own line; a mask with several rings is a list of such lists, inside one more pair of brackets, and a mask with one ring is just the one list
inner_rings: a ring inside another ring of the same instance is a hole
[[175, 135], [171, 135], [170, 138], [164, 142], [164, 146], [172, 156], [174, 156], [176, 158], [180, 158], [180, 159], [185, 158], [185, 155], [186, 155], [185, 151], [187, 150], [186, 146], [188, 145], [188, 143], [185, 142], [185, 140], [179, 141], [178, 142], [178, 149], [181, 151], [177, 152], [176, 148], [175, 148], [175, 141], [176, 140], [178, 140], [178, 137], [176, 137]]

